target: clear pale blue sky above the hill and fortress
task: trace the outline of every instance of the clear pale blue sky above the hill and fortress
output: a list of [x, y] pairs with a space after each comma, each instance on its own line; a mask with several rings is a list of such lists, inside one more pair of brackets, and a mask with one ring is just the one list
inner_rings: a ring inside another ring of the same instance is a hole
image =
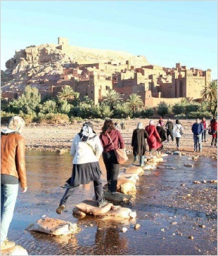
[[217, 1], [1, 0], [1, 70], [15, 50], [58, 37], [167, 68], [210, 68], [217, 79]]

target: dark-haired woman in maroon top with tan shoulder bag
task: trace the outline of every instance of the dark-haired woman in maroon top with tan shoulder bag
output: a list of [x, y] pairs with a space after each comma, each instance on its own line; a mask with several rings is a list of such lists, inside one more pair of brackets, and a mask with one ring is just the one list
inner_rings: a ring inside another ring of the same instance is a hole
[[117, 162], [114, 149], [125, 148], [124, 140], [110, 119], [105, 120], [101, 130], [100, 140], [103, 146], [103, 162], [107, 171], [108, 191], [115, 194], [120, 164]]

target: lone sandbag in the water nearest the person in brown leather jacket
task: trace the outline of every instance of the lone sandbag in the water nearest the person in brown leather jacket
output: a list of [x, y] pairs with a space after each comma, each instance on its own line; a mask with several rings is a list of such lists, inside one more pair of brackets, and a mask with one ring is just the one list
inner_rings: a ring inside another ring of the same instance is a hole
[[60, 219], [41, 218], [30, 228], [30, 231], [39, 231], [49, 233], [53, 236], [68, 235], [78, 233], [79, 227], [77, 224], [65, 222]]

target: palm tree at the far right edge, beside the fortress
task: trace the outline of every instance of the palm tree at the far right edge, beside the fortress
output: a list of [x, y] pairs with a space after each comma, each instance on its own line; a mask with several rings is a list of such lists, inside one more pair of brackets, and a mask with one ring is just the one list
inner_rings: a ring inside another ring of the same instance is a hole
[[203, 100], [209, 101], [209, 111], [212, 110], [212, 105], [214, 105], [214, 113], [217, 110], [217, 80], [213, 80], [204, 86], [204, 89], [200, 91], [200, 95]]

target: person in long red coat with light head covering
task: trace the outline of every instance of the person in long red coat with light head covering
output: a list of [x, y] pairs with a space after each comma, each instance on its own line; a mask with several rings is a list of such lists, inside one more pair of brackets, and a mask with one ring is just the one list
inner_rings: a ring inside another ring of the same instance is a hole
[[146, 132], [148, 132], [147, 142], [150, 155], [154, 150], [157, 151], [159, 154], [163, 146], [161, 143], [160, 135], [158, 134], [158, 131], [154, 125], [153, 120], [150, 120], [149, 124], [146, 126]]

